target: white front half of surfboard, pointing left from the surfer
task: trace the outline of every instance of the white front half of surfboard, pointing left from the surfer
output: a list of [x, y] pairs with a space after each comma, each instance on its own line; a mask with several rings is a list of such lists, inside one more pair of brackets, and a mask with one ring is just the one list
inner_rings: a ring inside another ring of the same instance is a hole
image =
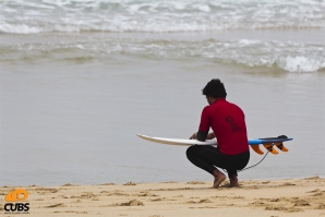
[[183, 140], [183, 138], [166, 138], [166, 137], [152, 137], [147, 135], [136, 134], [139, 137], [161, 144], [168, 145], [183, 145], [183, 146], [191, 146], [191, 145], [218, 145], [217, 140], [206, 140], [205, 142], [201, 142], [197, 140]]

